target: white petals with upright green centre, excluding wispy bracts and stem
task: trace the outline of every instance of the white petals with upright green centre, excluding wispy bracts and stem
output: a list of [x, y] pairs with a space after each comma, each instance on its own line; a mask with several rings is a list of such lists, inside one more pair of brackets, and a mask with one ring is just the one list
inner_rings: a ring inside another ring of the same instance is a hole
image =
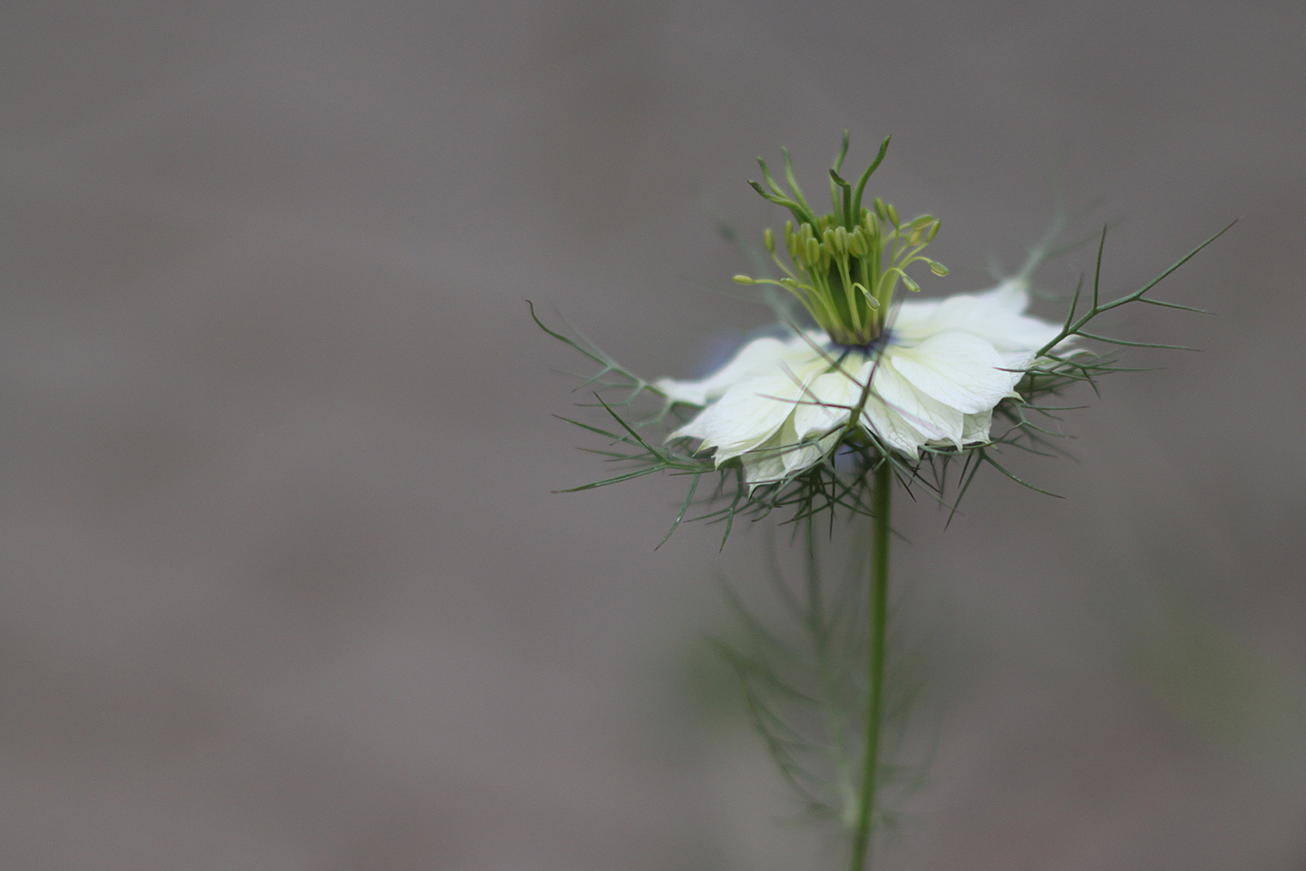
[[922, 447], [989, 440], [993, 409], [1013, 392], [1037, 353], [1059, 328], [1027, 316], [1024, 278], [980, 294], [940, 302], [893, 302], [901, 285], [921, 287], [908, 269], [923, 262], [948, 270], [921, 252], [939, 232], [939, 219], [908, 222], [893, 205], [862, 193], [884, 158], [888, 140], [857, 185], [838, 170], [848, 137], [829, 171], [833, 210], [818, 215], [794, 178], [785, 153], [786, 191], [759, 158], [769, 191], [754, 188], [788, 209], [785, 262], [774, 234], [764, 242], [782, 278], [737, 276], [746, 285], [789, 291], [819, 329], [788, 340], [759, 338], [721, 371], [701, 381], [662, 380], [673, 402], [704, 406], [673, 439], [701, 440], [714, 461], [739, 457], [750, 484], [784, 481], [828, 457], [845, 439], [870, 436], [880, 451], [917, 460]]

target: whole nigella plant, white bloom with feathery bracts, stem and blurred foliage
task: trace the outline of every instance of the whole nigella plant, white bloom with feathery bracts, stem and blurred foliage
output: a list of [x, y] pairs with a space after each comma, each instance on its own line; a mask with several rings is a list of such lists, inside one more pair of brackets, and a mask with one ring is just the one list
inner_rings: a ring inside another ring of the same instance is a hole
[[[1055, 231], [1015, 278], [996, 287], [904, 300], [902, 294], [895, 298], [897, 290], [919, 290], [909, 272], [923, 278], [913, 266], [922, 264], [938, 277], [948, 270], [921, 253], [939, 232], [936, 218], [902, 221], [879, 197], [862, 206], [867, 179], [887, 148], [884, 140], [854, 185], [840, 175], [848, 151], [844, 135], [829, 170], [832, 209], [825, 214], [808, 205], [788, 153], [788, 188], [759, 161], [767, 187], [751, 184], [793, 215], [782, 236], [781, 253], [788, 259], [777, 253], [777, 234], [767, 230], [763, 239], [777, 277], [735, 281], [776, 285], [804, 315], [782, 312], [780, 320], [789, 326], [782, 337], [746, 343], [703, 380], [648, 381], [589, 342], [550, 329], [530, 309], [545, 332], [598, 367], [581, 384], [593, 397], [581, 405], [602, 415], [598, 424], [563, 419], [606, 440], [586, 451], [614, 464], [614, 473], [571, 490], [670, 473], [687, 488], [663, 542], [691, 512], [692, 518], [722, 522], [722, 546], [741, 513], [760, 520], [782, 511], [784, 522], [795, 524], [795, 534], [803, 537], [802, 585], [774, 575], [784, 602], [780, 611], [795, 619], [797, 632], [773, 631], [730, 593], [746, 641], [724, 645], [722, 652], [744, 683], [750, 709], [765, 714], [752, 717], [754, 725], [804, 807], [844, 827], [845, 867], [854, 871], [868, 867], [872, 836], [887, 817], [884, 787], [904, 780], [887, 776], [904, 767], [896, 760], [889, 768], [882, 742], [885, 726], [906, 709], [906, 697], [888, 696], [895, 682], [885, 680], [892, 658], [895, 490], [927, 488], [951, 501], [955, 513], [985, 465], [1032, 487], [1002, 465], [1000, 452], [1004, 447], [1058, 451], [1053, 439], [1062, 434], [1055, 423], [1053, 428], [1040, 423], [1058, 422], [1057, 413], [1066, 406], [1043, 400], [1076, 384], [1096, 384], [1097, 376], [1118, 368], [1110, 351], [1094, 346], [1174, 347], [1085, 328], [1131, 303], [1196, 311], [1147, 294], [1224, 232], [1113, 299], [1101, 294], [1104, 229], [1092, 285], [1085, 289], [1080, 282], [1060, 324], [1025, 313], [1028, 278]], [[953, 458], [961, 460], [961, 469], [949, 483]], [[714, 492], [701, 492], [703, 478], [718, 479]], [[865, 584], [857, 573], [844, 573], [837, 588], [823, 588], [829, 572], [821, 571], [820, 551], [832, 537], [815, 521], [825, 511], [831, 525], [836, 513], [871, 521], [870, 547], [859, 548], [849, 563], [867, 569]]]

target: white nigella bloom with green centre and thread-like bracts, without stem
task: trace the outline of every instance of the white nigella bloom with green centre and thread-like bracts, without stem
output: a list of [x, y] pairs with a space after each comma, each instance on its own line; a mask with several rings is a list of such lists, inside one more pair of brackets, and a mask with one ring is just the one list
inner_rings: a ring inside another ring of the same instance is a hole
[[[645, 380], [588, 342], [535, 319], [599, 367], [582, 387], [592, 388], [596, 402], [590, 405], [603, 409], [606, 423], [571, 422], [609, 439], [606, 448], [594, 452], [616, 464], [616, 473], [573, 490], [660, 471], [686, 475], [688, 492], [674, 531], [690, 512], [700, 479], [721, 473], [717, 492], [707, 501], [727, 501], [701, 517], [724, 520], [726, 535], [739, 511], [764, 516], [793, 508], [795, 517], [810, 517], [837, 508], [874, 516], [889, 475], [942, 495], [953, 457], [963, 457], [960, 499], [983, 465], [1025, 483], [1000, 465], [1003, 447], [1058, 451], [1057, 413], [1063, 406], [1042, 400], [1076, 383], [1093, 384], [1117, 368], [1094, 346], [1173, 347], [1085, 328], [1131, 303], [1190, 308], [1148, 293], [1224, 230], [1147, 285], [1105, 299], [1100, 293], [1104, 229], [1092, 286], [1081, 283], [1075, 290], [1060, 324], [1025, 311], [1028, 278], [1054, 244], [1059, 226], [1015, 278], [996, 287], [932, 300], [902, 299], [921, 290], [918, 279], [926, 274], [942, 278], [948, 270], [922, 253], [939, 232], [938, 218], [901, 219], [880, 197], [862, 205], [867, 180], [887, 149], [884, 140], [871, 165], [850, 183], [840, 175], [848, 151], [845, 133], [828, 174], [831, 210], [825, 213], [816, 212], [803, 195], [788, 151], [786, 185], [759, 158], [765, 187], [750, 184], [791, 219], [782, 232], [768, 229], [763, 234], [776, 277], [735, 276], [735, 281], [780, 287], [802, 312], [797, 317], [785, 312], [782, 337], [746, 343], [705, 379]], [[636, 410], [637, 405], [644, 410]], [[1038, 426], [1046, 426], [1042, 418], [1054, 422], [1051, 430]]]

